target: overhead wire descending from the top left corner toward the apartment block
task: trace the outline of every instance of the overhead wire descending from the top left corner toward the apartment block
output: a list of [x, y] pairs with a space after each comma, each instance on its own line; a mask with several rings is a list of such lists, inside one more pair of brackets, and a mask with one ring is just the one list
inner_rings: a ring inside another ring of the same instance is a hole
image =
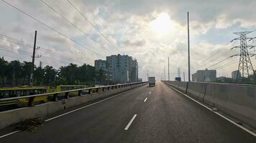
[[[94, 54], [97, 54], [97, 55], [99, 55], [99, 56], [102, 56], [101, 54], [98, 54], [98, 53], [96, 53], [95, 51], [92, 51], [91, 49], [89, 49], [88, 47], [83, 46], [82, 44], [78, 43], [77, 41], [71, 39], [69, 36], [66, 36], [65, 34], [61, 33], [60, 31], [58, 31], [58, 30], [56, 30], [56, 29], [53, 29], [51, 26], [48, 26], [47, 24], [43, 23], [42, 21], [40, 21], [40, 20], [36, 19], [35, 17], [33, 17], [33, 16], [27, 14], [26, 12], [24, 12], [24, 11], [22, 11], [21, 9], [17, 8], [16, 6], [13, 6], [12, 4], [9, 4], [7, 1], [5, 1], [5, 0], [1, 0], [1, 1], [3, 1], [5, 4], [8, 4], [9, 6], [12, 6], [14, 9], [17, 9], [17, 11], [22, 12], [23, 14], [29, 16], [31, 19], [34, 19], [35, 21], [37, 21], [37, 22], [39, 22], [40, 24], [46, 26], [47, 28], [52, 29], [52, 31], [55, 31], [56, 33], [58, 33], [58, 34], [64, 36], [65, 38], [69, 39], [70, 41], [73, 41], [74, 43], [78, 44], [79, 46], [82, 46], [82, 47], [88, 49], [88, 51], [91, 51], [91, 52], [93, 52]], [[102, 57], [104, 57], [104, 56], [102, 56]]]

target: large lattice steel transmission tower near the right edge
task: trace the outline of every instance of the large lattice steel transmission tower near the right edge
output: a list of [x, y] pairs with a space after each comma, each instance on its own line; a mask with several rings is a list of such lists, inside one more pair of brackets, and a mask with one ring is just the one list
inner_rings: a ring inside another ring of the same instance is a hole
[[[239, 59], [239, 64], [237, 68], [237, 80], [244, 77], [250, 76], [250, 74], [255, 74], [255, 71], [252, 66], [252, 61], [250, 60], [250, 56], [255, 56], [255, 54], [250, 54], [248, 49], [252, 49], [255, 46], [253, 45], [248, 45], [247, 41], [252, 41], [252, 39], [255, 39], [256, 37], [248, 37], [247, 34], [252, 33], [252, 31], [239, 31], [239, 32], [234, 32], [234, 34], [237, 34], [239, 37], [232, 39], [234, 40], [239, 40], [240, 45], [239, 46], [234, 46], [232, 49], [239, 48], [240, 52], [239, 54], [234, 54], [232, 56], [240, 56]], [[230, 42], [232, 42], [230, 41]], [[241, 76], [239, 76], [241, 74]]]

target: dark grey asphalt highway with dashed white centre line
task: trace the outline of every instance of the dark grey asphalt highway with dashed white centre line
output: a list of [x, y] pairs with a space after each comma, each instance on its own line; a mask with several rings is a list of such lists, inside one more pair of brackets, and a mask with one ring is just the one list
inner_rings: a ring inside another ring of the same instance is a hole
[[255, 143], [256, 138], [157, 82], [155, 87], [133, 89], [0, 142]]

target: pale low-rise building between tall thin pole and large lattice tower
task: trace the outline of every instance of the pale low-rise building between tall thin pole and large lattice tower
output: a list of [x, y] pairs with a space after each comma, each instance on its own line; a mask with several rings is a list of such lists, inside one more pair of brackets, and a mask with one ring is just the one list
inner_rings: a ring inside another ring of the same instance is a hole
[[198, 70], [192, 74], [193, 82], [214, 82], [216, 79], [216, 70]]

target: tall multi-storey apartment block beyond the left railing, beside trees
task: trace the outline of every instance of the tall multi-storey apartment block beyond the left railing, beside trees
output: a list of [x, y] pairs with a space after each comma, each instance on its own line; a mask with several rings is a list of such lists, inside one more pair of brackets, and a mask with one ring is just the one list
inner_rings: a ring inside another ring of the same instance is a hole
[[121, 54], [106, 56], [106, 61], [101, 59], [95, 61], [95, 69], [104, 69], [107, 79], [113, 82], [137, 82], [137, 60], [132, 59], [132, 56]]

